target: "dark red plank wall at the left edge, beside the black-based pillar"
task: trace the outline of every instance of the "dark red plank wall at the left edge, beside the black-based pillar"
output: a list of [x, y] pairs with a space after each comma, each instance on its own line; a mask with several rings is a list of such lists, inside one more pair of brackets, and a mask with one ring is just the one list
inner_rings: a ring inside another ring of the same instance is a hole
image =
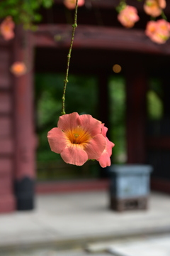
[[16, 210], [13, 193], [13, 104], [11, 100], [11, 44], [0, 38], [0, 213]]

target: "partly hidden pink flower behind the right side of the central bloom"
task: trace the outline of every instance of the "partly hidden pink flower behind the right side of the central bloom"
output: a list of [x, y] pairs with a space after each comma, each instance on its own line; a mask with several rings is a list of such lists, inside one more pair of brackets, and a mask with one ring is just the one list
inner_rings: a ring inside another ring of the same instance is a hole
[[112, 155], [112, 148], [113, 148], [113, 146], [115, 146], [115, 144], [110, 142], [110, 140], [108, 140], [108, 138], [106, 137], [107, 132], [108, 132], [108, 128], [105, 127], [104, 124], [102, 124], [101, 134], [103, 135], [103, 137], [106, 138], [106, 148], [104, 149], [101, 156], [97, 159], [97, 161], [99, 161], [99, 164], [101, 165], [101, 167], [111, 166], [110, 157]]

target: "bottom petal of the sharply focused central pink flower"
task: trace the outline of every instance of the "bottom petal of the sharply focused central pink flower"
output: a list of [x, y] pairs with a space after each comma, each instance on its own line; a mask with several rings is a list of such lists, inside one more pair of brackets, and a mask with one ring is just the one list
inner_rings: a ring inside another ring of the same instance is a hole
[[86, 152], [79, 144], [72, 144], [72, 146], [66, 147], [61, 156], [67, 164], [75, 164], [77, 166], [83, 165], [88, 160]]

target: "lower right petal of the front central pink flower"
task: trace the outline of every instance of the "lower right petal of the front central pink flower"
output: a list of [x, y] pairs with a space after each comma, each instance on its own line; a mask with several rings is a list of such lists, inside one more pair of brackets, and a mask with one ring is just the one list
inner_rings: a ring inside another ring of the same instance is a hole
[[89, 159], [98, 159], [105, 148], [106, 139], [101, 134], [94, 136], [94, 138], [84, 145], [84, 150], [88, 154]]

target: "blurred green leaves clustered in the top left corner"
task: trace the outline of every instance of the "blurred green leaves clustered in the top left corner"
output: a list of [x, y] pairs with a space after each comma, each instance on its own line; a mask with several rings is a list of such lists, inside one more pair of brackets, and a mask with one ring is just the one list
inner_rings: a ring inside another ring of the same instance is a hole
[[33, 28], [33, 23], [41, 20], [40, 6], [50, 8], [53, 0], [2, 0], [0, 2], [0, 18], [12, 16], [15, 23], [23, 24], [26, 29]]

